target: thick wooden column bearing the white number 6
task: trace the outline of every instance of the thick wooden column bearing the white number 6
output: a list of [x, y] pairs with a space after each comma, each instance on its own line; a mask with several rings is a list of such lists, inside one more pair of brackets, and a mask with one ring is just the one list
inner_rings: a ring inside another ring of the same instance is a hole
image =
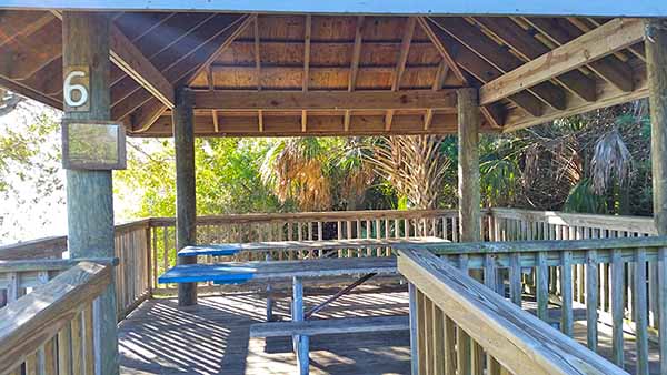
[[[63, 71], [88, 67], [88, 110], [66, 110], [74, 120], [109, 120], [109, 19], [91, 12], [62, 17]], [[111, 171], [67, 171], [68, 246], [71, 257], [112, 257], [113, 191]], [[116, 286], [111, 283], [93, 306], [98, 374], [118, 374]]]

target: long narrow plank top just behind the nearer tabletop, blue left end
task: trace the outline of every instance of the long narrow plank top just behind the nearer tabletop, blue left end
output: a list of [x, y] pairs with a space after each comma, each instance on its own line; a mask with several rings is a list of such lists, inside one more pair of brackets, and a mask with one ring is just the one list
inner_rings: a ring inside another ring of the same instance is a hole
[[328, 241], [266, 241], [248, 243], [226, 243], [218, 245], [186, 246], [178, 252], [178, 256], [213, 255], [225, 256], [236, 253], [266, 252], [280, 250], [337, 250], [337, 249], [364, 249], [385, 247], [397, 244], [428, 245], [447, 242], [439, 237], [415, 237], [415, 239], [352, 239], [352, 240], [328, 240]]

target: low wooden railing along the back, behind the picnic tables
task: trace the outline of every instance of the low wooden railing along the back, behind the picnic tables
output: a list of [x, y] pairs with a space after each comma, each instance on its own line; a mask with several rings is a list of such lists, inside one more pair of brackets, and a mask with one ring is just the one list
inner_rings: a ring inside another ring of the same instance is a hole
[[[176, 229], [172, 217], [150, 220], [152, 274], [159, 275], [176, 264]], [[391, 239], [438, 236], [458, 241], [458, 213], [455, 210], [429, 211], [344, 211], [276, 214], [242, 214], [197, 217], [197, 242], [261, 242], [292, 240]], [[298, 251], [269, 252], [272, 260], [320, 256], [323, 253]], [[267, 254], [239, 254], [225, 260], [263, 260]], [[327, 254], [330, 256], [331, 254]], [[387, 256], [382, 250], [339, 251], [337, 256]], [[200, 257], [199, 263], [218, 262], [221, 257]], [[167, 290], [157, 284], [153, 290]]]

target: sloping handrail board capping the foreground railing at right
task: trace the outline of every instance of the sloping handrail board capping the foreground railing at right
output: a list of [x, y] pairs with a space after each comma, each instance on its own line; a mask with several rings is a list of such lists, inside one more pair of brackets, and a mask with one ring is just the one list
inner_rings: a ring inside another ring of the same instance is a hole
[[[512, 374], [627, 374], [424, 249], [401, 249], [398, 270], [445, 318]], [[426, 324], [442, 326], [442, 316], [428, 311], [425, 315]], [[437, 344], [425, 347], [432, 342], [442, 344], [437, 337], [419, 341], [419, 349], [429, 353], [419, 354], [426, 362], [419, 364], [420, 369], [438, 365], [445, 352], [452, 349]]]

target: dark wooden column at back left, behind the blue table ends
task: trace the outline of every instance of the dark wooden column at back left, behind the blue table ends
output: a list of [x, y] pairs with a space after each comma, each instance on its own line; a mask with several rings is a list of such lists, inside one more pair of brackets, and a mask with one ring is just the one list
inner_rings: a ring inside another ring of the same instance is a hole
[[[179, 88], [173, 109], [173, 144], [176, 146], [176, 249], [197, 241], [197, 202], [195, 185], [195, 115], [193, 93]], [[178, 264], [195, 264], [196, 256], [178, 256]], [[197, 284], [178, 284], [178, 305], [197, 304]]]

